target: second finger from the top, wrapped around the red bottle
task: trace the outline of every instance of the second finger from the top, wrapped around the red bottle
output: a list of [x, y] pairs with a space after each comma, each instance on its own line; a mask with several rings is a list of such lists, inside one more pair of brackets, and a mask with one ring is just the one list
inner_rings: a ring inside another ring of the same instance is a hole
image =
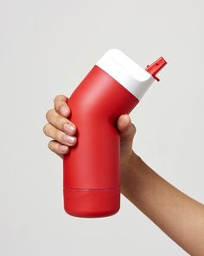
[[67, 135], [75, 135], [76, 127], [66, 117], [59, 115], [55, 109], [49, 109], [46, 118], [55, 128], [60, 129]]

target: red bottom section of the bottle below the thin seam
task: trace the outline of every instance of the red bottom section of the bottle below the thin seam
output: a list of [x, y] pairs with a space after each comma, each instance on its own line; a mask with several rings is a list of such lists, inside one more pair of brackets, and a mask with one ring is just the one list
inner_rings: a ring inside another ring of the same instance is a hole
[[100, 218], [118, 213], [120, 188], [73, 189], [64, 187], [66, 213], [80, 218]]

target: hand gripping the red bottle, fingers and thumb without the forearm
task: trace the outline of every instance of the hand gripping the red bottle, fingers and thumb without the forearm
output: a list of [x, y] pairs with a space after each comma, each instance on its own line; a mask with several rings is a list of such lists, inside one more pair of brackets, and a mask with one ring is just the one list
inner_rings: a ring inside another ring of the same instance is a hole
[[[49, 109], [46, 118], [48, 123], [44, 125], [43, 132], [52, 141], [48, 142], [48, 148], [63, 158], [70, 148], [76, 143], [76, 126], [68, 120], [70, 108], [67, 106], [68, 98], [65, 95], [57, 95], [54, 98], [54, 108]], [[129, 115], [120, 115], [117, 121], [117, 128], [120, 135], [120, 167], [124, 172], [131, 160], [132, 141], [136, 134], [136, 128], [131, 123]]]

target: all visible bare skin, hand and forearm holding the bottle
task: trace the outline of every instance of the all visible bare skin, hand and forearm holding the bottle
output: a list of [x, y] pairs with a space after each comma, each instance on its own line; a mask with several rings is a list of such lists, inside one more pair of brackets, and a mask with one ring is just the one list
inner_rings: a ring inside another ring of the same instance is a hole
[[[77, 128], [68, 120], [71, 109], [67, 104], [65, 95], [57, 95], [43, 127], [44, 134], [52, 138], [48, 148], [62, 159], [77, 141]], [[117, 128], [121, 193], [187, 253], [204, 255], [204, 205], [165, 181], [133, 151], [136, 128], [129, 115], [118, 117]]]

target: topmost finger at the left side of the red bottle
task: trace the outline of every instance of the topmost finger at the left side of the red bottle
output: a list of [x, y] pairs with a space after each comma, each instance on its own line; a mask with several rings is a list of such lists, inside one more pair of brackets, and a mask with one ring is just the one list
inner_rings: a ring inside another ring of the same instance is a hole
[[54, 109], [60, 115], [67, 117], [70, 115], [70, 108], [67, 106], [68, 98], [65, 95], [57, 95], [54, 98]]

